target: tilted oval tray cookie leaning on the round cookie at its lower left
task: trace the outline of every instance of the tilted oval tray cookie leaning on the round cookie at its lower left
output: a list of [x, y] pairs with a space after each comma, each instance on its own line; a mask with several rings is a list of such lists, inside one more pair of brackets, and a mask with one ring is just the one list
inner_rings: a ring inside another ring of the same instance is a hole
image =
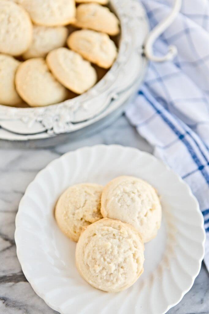
[[91, 63], [67, 48], [51, 51], [46, 62], [55, 78], [77, 94], [84, 93], [97, 81], [97, 73]]

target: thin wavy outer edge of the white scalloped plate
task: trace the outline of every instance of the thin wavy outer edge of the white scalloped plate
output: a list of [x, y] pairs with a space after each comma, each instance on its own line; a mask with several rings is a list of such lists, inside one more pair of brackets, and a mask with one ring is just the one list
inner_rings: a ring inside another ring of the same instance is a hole
[[140, 149], [137, 149], [137, 148], [134, 148], [134, 147], [130, 147], [130, 146], [123, 146], [123, 145], [119, 145], [119, 144], [111, 144], [111, 145], [107, 145], [107, 144], [97, 144], [97, 145], [92, 145], [92, 146], [83, 146], [81, 148], [78, 148], [78, 149], [75, 149], [75, 150], [71, 150], [71, 151], [68, 151], [66, 152], [65, 154], [59, 156], [58, 158], [55, 158], [54, 160], [50, 161], [49, 164], [47, 164], [42, 170], [40, 170], [36, 176], [34, 177], [34, 179], [29, 183], [28, 187], [26, 188], [25, 190], [25, 193], [23, 195], [23, 197], [21, 198], [20, 200], [20, 203], [19, 203], [19, 206], [18, 206], [18, 211], [17, 211], [17, 214], [16, 214], [16, 217], [15, 217], [15, 232], [14, 232], [14, 240], [15, 240], [15, 245], [16, 245], [16, 253], [17, 253], [17, 257], [18, 257], [18, 261], [21, 265], [21, 268], [22, 268], [22, 271], [24, 273], [24, 276], [26, 277], [27, 281], [29, 282], [29, 284], [31, 285], [31, 287], [33, 288], [34, 292], [44, 300], [44, 302], [53, 310], [55, 311], [58, 311], [60, 314], [63, 314], [62, 310], [60, 309], [60, 307], [56, 307], [54, 305], [52, 305], [48, 300], [47, 298], [45, 297], [45, 295], [43, 293], [40, 293], [38, 292], [38, 289], [36, 287], [36, 284], [34, 283], [33, 281], [33, 278], [31, 278], [31, 276], [27, 273], [27, 271], [24, 269], [24, 262], [22, 260], [22, 257], [21, 257], [21, 253], [19, 251], [19, 243], [18, 243], [18, 237], [17, 237], [17, 230], [18, 230], [18, 216], [20, 214], [20, 210], [21, 210], [21, 206], [22, 206], [22, 203], [23, 203], [23, 200], [25, 198], [25, 195], [26, 193], [29, 191], [29, 188], [30, 186], [34, 183], [34, 181], [36, 181], [39, 176], [42, 175], [42, 173], [47, 170], [48, 168], [51, 167], [51, 165], [53, 165], [53, 163], [55, 163], [57, 160], [60, 160], [62, 158], [65, 158], [66, 155], [70, 155], [70, 154], [75, 154], [76, 152], [78, 151], [82, 151], [82, 150], [85, 150], [85, 149], [97, 149], [97, 148], [106, 148], [106, 149], [111, 149], [111, 148], [120, 148], [120, 149], [129, 149], [129, 150], [132, 150], [132, 151], [135, 151], [139, 154], [144, 154], [144, 155], [149, 155], [149, 157], [157, 160], [159, 163], [161, 163], [161, 165], [163, 165], [167, 171], [170, 171], [173, 175], [176, 176], [176, 178], [178, 179], [178, 181], [183, 184], [186, 189], [187, 189], [187, 192], [188, 192], [188, 195], [195, 201], [196, 203], [196, 212], [199, 214], [200, 218], [201, 218], [201, 224], [199, 225], [199, 227], [201, 228], [202, 230], [202, 234], [203, 234], [203, 240], [202, 242], [200, 243], [201, 245], [201, 248], [202, 248], [202, 255], [199, 257], [199, 260], [198, 260], [198, 269], [196, 271], [195, 274], [193, 274], [193, 276], [190, 276], [191, 277], [191, 284], [189, 285], [189, 287], [187, 289], [185, 289], [184, 291], [181, 292], [181, 296], [180, 298], [167, 306], [166, 310], [160, 314], [165, 314], [167, 311], [169, 311], [172, 307], [174, 307], [175, 305], [177, 305], [184, 297], [184, 295], [191, 289], [191, 287], [193, 286], [194, 284], [194, 281], [197, 277], [197, 275], [199, 274], [200, 272], [200, 269], [201, 269], [201, 263], [202, 263], [202, 260], [204, 258], [204, 255], [205, 255], [205, 241], [206, 241], [206, 232], [205, 232], [205, 228], [204, 228], [204, 219], [203, 219], [203, 215], [201, 214], [201, 210], [200, 210], [200, 207], [199, 207], [199, 203], [197, 201], [197, 198], [194, 196], [194, 194], [192, 193], [191, 191], [191, 187], [180, 177], [179, 174], [177, 174], [173, 169], [171, 169], [168, 165], [166, 165], [162, 160], [160, 160], [159, 158], [157, 158], [156, 156], [154, 156], [153, 154], [150, 154], [146, 151], [142, 151]]

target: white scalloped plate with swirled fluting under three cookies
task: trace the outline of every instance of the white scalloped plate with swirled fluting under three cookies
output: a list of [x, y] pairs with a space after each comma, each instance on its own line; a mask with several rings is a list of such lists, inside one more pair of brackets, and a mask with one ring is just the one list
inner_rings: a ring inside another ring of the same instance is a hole
[[[106, 184], [119, 175], [143, 178], [161, 195], [163, 221], [145, 244], [144, 273], [128, 290], [92, 288], [75, 265], [76, 244], [54, 219], [57, 198], [79, 182]], [[16, 216], [15, 242], [34, 291], [61, 314], [162, 314], [191, 288], [204, 255], [203, 218], [190, 188], [151, 154], [118, 145], [97, 145], [52, 161], [30, 183]]]

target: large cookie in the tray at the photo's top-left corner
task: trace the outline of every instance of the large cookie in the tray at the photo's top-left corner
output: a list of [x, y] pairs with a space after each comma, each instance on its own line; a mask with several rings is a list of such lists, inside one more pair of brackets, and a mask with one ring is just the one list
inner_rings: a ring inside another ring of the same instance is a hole
[[0, 52], [18, 56], [32, 41], [32, 23], [18, 4], [0, 0]]

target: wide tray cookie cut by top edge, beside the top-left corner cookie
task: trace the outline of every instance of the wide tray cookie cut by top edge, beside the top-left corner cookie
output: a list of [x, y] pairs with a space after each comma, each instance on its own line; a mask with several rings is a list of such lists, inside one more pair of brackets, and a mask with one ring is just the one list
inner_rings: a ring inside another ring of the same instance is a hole
[[74, 0], [18, 0], [34, 24], [45, 26], [67, 25], [75, 20]]

